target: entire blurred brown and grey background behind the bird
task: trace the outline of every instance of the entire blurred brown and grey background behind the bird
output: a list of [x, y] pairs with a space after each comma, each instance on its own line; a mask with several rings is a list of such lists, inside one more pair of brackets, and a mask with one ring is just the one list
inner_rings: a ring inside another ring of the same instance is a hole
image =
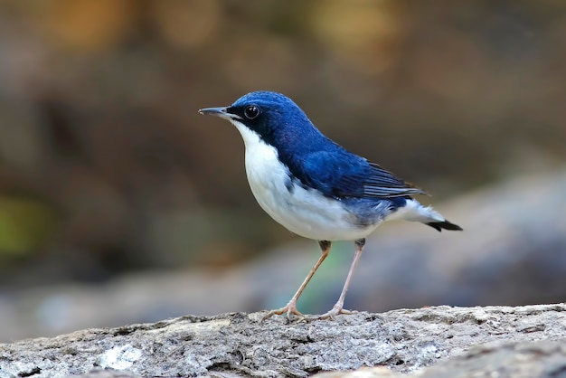
[[[566, 3], [1, 0], [0, 341], [281, 307], [319, 250], [197, 109], [285, 93], [465, 232], [383, 225], [346, 307], [566, 300]], [[331, 307], [334, 253], [299, 309]]]

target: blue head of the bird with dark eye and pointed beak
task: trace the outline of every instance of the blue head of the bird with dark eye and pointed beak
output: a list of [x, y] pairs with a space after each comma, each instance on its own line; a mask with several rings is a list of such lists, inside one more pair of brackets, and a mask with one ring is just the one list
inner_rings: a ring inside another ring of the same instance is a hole
[[250, 132], [271, 146], [321, 136], [305, 112], [292, 99], [277, 92], [251, 92], [231, 106], [200, 109], [199, 113], [228, 119], [238, 128], [246, 144]]

